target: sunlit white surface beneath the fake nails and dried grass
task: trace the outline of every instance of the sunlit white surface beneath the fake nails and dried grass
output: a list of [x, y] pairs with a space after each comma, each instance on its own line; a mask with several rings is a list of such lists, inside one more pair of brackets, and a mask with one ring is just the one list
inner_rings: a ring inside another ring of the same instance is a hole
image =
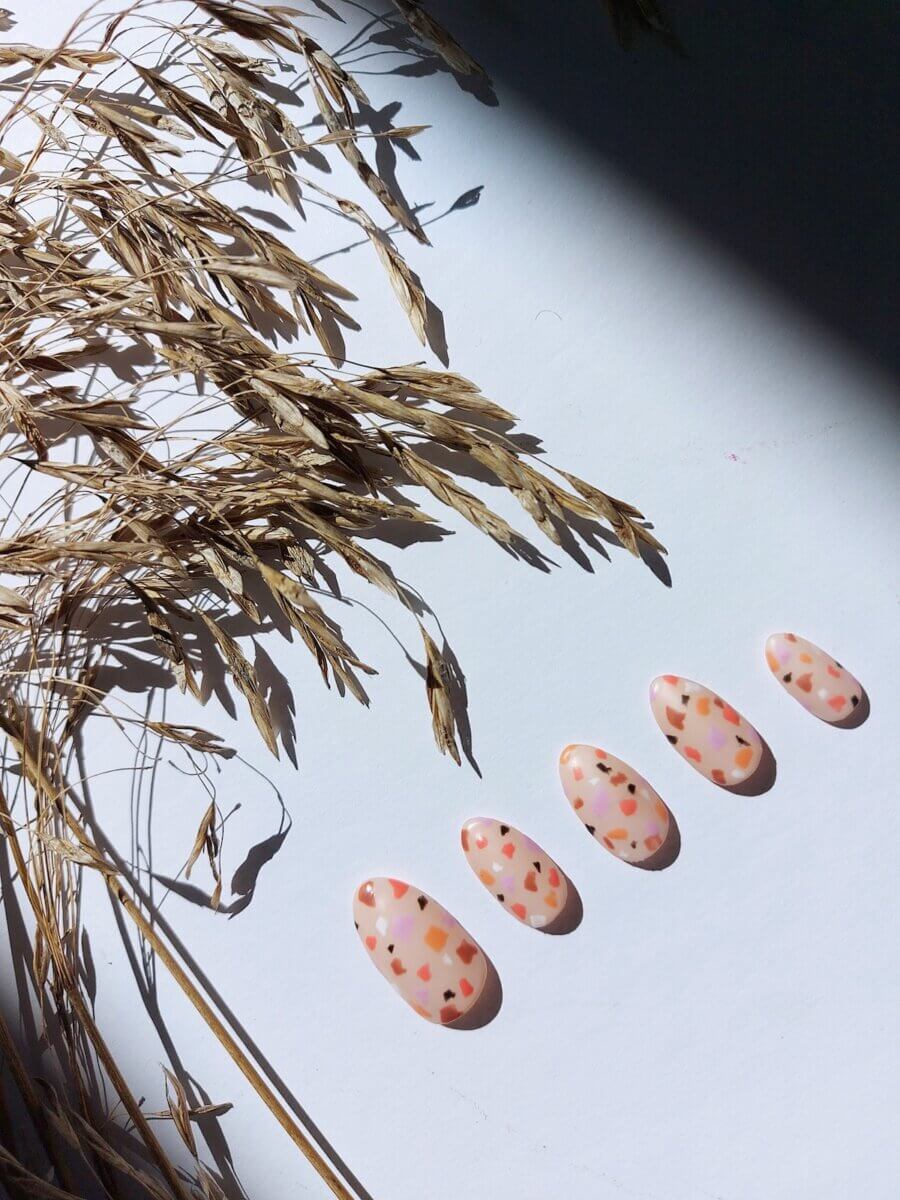
[[[58, 4], [43, 23], [74, 11]], [[49, 42], [18, 16], [14, 36]], [[454, 536], [385, 558], [466, 671], [484, 778], [433, 748], [396, 641], [419, 658], [414, 623], [349, 578], [373, 610], [341, 614], [380, 671], [370, 710], [325, 694], [302, 648], [260, 640], [294, 692], [298, 770], [268, 758], [242, 701], [233, 721], [215, 698], [198, 710], [167, 692], [167, 719], [221, 732], [246, 760], [217, 776], [222, 810], [240, 805], [226, 877], [278, 830], [276, 788], [292, 826], [233, 919], [176, 895], [163, 913], [374, 1200], [890, 1200], [900, 497], [887, 385], [503, 88], [486, 109], [445, 78], [366, 83], [376, 106], [403, 100], [397, 121], [434, 126], [416, 142], [424, 163], [401, 162], [410, 199], [443, 211], [485, 187], [430, 227], [433, 250], [402, 241], [446, 314], [451, 365], [553, 462], [638, 503], [673, 586], [614, 548], [590, 553], [588, 572], [542, 545], [560, 566], [545, 575], [439, 512]], [[360, 295], [353, 358], [420, 356], [366, 248], [324, 265]], [[776, 686], [762, 649], [781, 629], [858, 674], [866, 725], [828, 728]], [[757, 725], [773, 791], [722, 794], [671, 752], [647, 704], [665, 671]], [[568, 811], [556, 760], [580, 740], [634, 763], [670, 804], [683, 839], [670, 870], [617, 863]], [[89, 751], [95, 770], [131, 761], [100, 734]], [[175, 876], [208, 802], [166, 761], [155, 784], [142, 844]], [[128, 790], [121, 774], [94, 790], [120, 845]], [[491, 904], [458, 850], [473, 815], [508, 817], [571, 875], [575, 934], [541, 937]], [[481, 941], [505, 992], [493, 1024], [454, 1033], [391, 995], [350, 919], [371, 874], [426, 888]], [[200, 866], [192, 882], [209, 887]], [[163, 1051], [102, 886], [88, 889], [101, 1025], [160, 1109]], [[221, 1126], [247, 1193], [324, 1196], [163, 971], [156, 986], [184, 1068], [234, 1102]]]

